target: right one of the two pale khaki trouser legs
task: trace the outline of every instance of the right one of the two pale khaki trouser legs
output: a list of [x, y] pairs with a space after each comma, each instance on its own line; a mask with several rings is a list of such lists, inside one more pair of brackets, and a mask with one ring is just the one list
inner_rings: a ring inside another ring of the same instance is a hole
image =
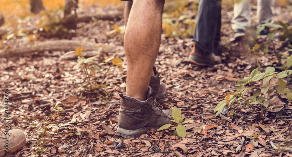
[[274, 15], [274, 0], [258, 0], [257, 15], [259, 24], [272, 22]]

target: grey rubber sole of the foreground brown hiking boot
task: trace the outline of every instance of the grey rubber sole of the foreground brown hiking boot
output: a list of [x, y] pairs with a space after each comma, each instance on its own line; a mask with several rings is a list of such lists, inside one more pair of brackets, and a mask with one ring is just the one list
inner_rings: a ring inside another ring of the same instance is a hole
[[124, 138], [135, 138], [139, 137], [140, 135], [147, 133], [147, 131], [151, 128], [140, 128], [136, 130], [126, 130], [123, 128], [118, 127], [117, 135], [124, 137]]

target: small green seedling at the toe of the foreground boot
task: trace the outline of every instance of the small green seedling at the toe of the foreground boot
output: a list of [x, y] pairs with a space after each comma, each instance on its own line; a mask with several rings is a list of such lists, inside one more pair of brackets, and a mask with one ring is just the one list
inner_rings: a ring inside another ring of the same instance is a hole
[[165, 124], [164, 126], [161, 126], [158, 129], [158, 131], [168, 129], [171, 127], [169, 130], [170, 131], [173, 130], [173, 135], [175, 135], [179, 138], [185, 137], [187, 130], [186, 130], [185, 126], [183, 126], [183, 124], [193, 122], [193, 120], [183, 121], [185, 118], [182, 117], [182, 114], [180, 113], [180, 110], [178, 110], [177, 107], [173, 107], [173, 109], [172, 109], [172, 118], [174, 120], [170, 120], [170, 121], [174, 122], [175, 125]]

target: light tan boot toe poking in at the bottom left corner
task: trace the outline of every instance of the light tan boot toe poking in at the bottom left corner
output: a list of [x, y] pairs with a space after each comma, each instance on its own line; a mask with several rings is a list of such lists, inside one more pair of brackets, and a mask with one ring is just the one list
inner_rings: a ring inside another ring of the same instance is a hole
[[0, 156], [9, 151], [14, 152], [26, 144], [26, 137], [22, 130], [13, 129], [9, 130], [9, 132], [5, 131], [4, 129], [0, 130]]

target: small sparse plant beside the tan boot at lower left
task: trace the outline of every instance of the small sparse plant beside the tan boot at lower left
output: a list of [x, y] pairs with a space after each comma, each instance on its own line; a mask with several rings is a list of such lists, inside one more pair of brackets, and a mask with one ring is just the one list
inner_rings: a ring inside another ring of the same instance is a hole
[[[38, 121], [32, 121], [28, 117], [25, 117], [25, 119], [23, 119], [23, 120], [28, 120], [28, 121], [32, 122], [32, 124], [33, 124], [27, 128], [37, 129], [37, 134], [34, 135], [34, 137], [31, 140], [32, 142], [36, 143], [35, 146], [30, 149], [30, 151], [33, 152], [32, 157], [42, 156], [42, 155], [44, 155], [44, 152], [48, 149], [48, 147], [46, 147], [47, 142], [50, 141], [49, 139], [51, 139], [51, 136], [56, 134], [56, 132], [60, 129], [56, 125], [51, 125], [54, 122], [56, 122], [53, 119], [55, 117], [58, 117], [58, 116], [60, 116], [60, 115], [54, 114], [53, 116], [50, 117], [51, 118], [50, 121], [43, 121], [45, 123], [48, 123], [48, 126], [42, 126], [42, 123], [40, 123]], [[48, 132], [48, 130], [50, 130], [51, 128], [53, 128], [53, 130], [55, 130], [55, 131]]]

